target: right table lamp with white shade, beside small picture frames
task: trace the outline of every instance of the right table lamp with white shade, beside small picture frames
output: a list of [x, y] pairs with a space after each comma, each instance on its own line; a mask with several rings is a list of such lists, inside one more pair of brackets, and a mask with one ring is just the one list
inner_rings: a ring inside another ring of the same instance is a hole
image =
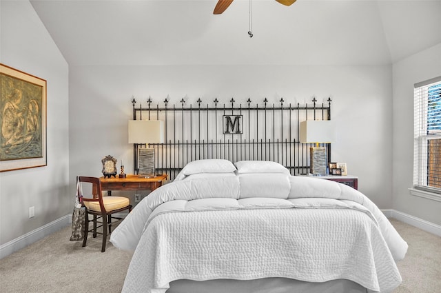
[[319, 143], [331, 143], [334, 141], [334, 124], [330, 120], [307, 120], [300, 122], [300, 142], [316, 143], [315, 147], [309, 148], [311, 174], [327, 174], [326, 148], [325, 146], [319, 146]]

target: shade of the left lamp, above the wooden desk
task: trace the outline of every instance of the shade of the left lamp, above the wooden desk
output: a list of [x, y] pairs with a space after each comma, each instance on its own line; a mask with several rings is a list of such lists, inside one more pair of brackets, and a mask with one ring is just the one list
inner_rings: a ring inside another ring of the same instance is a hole
[[129, 143], [163, 143], [164, 122], [161, 120], [129, 120]]

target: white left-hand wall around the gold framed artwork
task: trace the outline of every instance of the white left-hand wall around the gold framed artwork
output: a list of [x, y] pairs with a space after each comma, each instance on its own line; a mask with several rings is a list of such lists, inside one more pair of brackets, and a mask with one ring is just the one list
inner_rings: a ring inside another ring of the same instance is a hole
[[[28, 1], [0, 1], [0, 62], [47, 81], [46, 167], [0, 173], [0, 245], [72, 211], [68, 64]], [[35, 216], [28, 217], [34, 206]]]

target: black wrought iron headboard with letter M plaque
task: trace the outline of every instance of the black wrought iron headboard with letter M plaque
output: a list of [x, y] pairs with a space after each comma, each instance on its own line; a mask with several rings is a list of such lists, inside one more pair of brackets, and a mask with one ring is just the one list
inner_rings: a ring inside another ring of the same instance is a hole
[[[318, 104], [289, 105], [280, 99], [278, 105], [269, 105], [267, 99], [261, 105], [248, 99], [243, 106], [234, 99], [229, 105], [219, 105], [217, 99], [212, 104], [152, 105], [147, 99], [147, 107], [136, 106], [132, 99], [133, 119], [153, 119], [165, 122], [165, 143], [149, 144], [155, 148], [156, 172], [167, 174], [172, 181], [189, 162], [198, 159], [227, 159], [229, 161], [260, 160], [276, 161], [284, 165], [293, 175], [309, 172], [309, 147], [300, 143], [299, 125], [305, 120], [330, 120], [331, 99]], [[327, 148], [331, 161], [331, 145]], [[134, 173], [137, 174], [138, 148], [146, 145], [134, 144]]]

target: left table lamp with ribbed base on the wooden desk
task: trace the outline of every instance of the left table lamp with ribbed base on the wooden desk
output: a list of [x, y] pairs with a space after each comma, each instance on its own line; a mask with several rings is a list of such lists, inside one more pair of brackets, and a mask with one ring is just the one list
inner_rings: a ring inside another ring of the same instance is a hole
[[[149, 148], [148, 144], [163, 142], [163, 121], [129, 120], [129, 143], [134, 143], [134, 168], [138, 169], [139, 176], [144, 178], [155, 176], [154, 148]], [[143, 144], [145, 148], [140, 148]]]

